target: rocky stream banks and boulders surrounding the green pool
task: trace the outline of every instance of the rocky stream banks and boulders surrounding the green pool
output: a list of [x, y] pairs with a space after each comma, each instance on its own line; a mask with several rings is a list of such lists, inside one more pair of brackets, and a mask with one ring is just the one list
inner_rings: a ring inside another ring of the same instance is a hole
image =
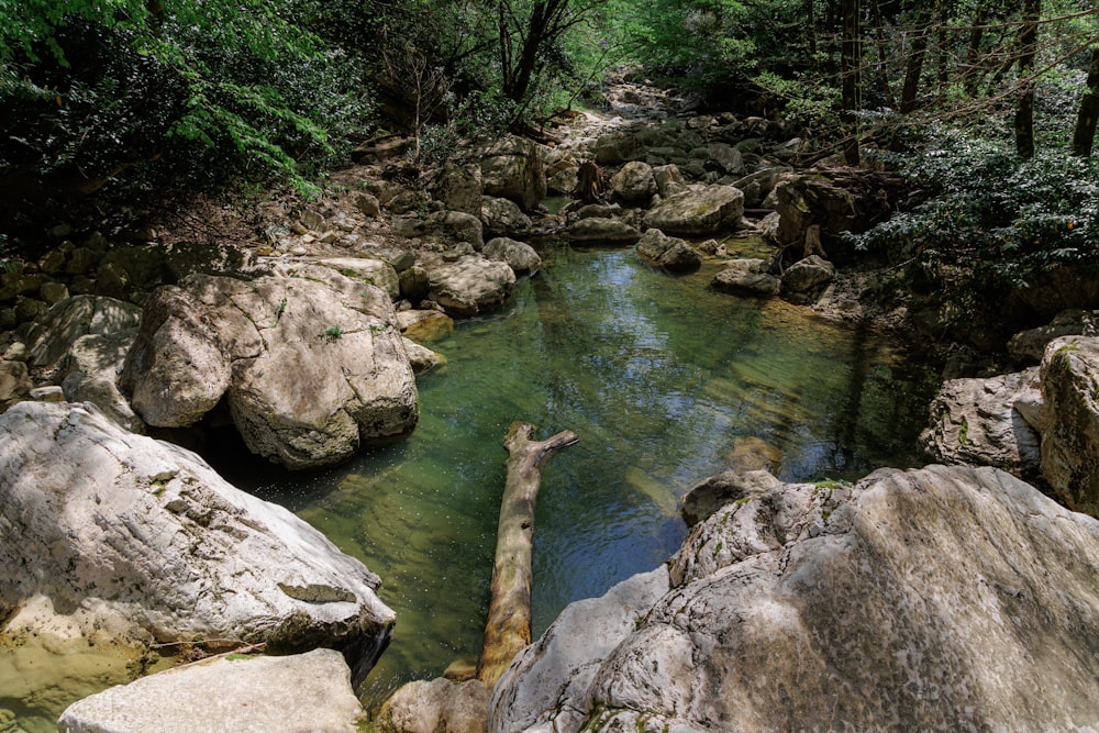
[[[12, 568], [0, 640], [134, 656], [336, 648], [344, 660], [323, 662], [333, 689], [360, 681], [395, 622], [380, 579], [157, 438], [200, 444], [232, 424], [291, 470], [399, 440], [419, 415], [415, 373], [440, 360], [417, 334], [507, 303], [546, 236], [634, 247], [669, 273], [721, 262], [713, 287], [730, 297], [903, 321], [903, 301], [882, 307], [840, 237], [880, 218], [888, 196], [847, 186], [853, 171], [796, 169], [811, 143], [779, 123], [617, 93], [618, 116], [591, 115], [554, 145], [495, 141], [426, 171], [387, 158], [399, 141], [360, 151], [321, 200], [263, 210], [252, 240], [237, 224], [245, 246], [195, 244], [178, 222], [44, 234], [45, 254], [0, 276], [0, 560]], [[592, 200], [551, 215], [546, 197], [571, 193], [592, 164]], [[770, 256], [729, 257], [745, 232], [769, 237]], [[569, 607], [463, 725], [1099, 725], [1099, 525], [1073, 511], [1099, 506], [1090, 324], [1064, 313], [1014, 342], [1036, 369], [944, 387], [926, 444], [956, 466], [853, 485], [702, 481], [668, 565]], [[152, 687], [112, 695], [140, 709]], [[64, 730], [98, 730], [103, 709], [82, 704]], [[421, 730], [440, 710], [381, 724]]]

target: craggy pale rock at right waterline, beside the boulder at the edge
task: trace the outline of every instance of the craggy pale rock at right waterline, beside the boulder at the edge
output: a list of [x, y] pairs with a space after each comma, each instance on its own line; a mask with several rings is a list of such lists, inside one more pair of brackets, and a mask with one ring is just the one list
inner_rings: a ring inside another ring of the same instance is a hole
[[1041, 399], [1037, 367], [989, 379], [951, 379], [931, 403], [931, 422], [920, 442], [942, 463], [995, 466], [1036, 478], [1041, 437], [1015, 406]]

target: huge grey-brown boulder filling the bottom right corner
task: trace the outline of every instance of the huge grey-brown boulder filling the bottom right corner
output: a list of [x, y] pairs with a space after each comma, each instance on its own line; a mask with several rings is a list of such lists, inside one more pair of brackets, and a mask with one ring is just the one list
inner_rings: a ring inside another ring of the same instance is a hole
[[1097, 566], [1099, 522], [995, 468], [763, 489], [695, 525], [621, 641], [566, 609], [490, 730], [1089, 730]]

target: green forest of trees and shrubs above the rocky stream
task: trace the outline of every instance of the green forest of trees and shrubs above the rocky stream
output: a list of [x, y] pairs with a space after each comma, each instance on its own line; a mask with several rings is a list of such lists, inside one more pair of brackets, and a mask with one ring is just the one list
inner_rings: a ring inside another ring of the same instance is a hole
[[1079, 0], [0, 0], [0, 245], [89, 201], [308, 196], [392, 133], [412, 165], [537, 136], [623, 68], [898, 170], [913, 196], [853, 241], [966, 263], [965, 292], [1099, 262]]

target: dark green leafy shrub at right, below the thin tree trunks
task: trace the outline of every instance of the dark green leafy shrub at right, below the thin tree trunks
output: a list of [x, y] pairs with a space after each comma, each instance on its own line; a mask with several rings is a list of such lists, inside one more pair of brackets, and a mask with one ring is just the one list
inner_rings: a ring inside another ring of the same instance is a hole
[[886, 155], [920, 186], [919, 201], [855, 246], [909, 262], [919, 288], [941, 293], [955, 320], [1062, 266], [1099, 269], [1099, 162], [941, 130], [922, 153]]

